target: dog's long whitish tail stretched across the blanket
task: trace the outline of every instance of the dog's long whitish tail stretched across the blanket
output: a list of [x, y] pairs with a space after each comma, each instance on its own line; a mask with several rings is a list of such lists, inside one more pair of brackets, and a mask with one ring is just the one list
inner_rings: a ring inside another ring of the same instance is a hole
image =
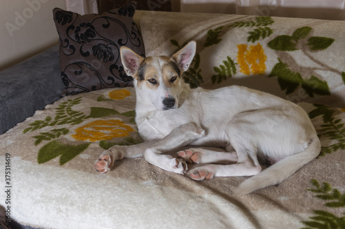
[[242, 182], [237, 188], [233, 189], [233, 192], [235, 195], [246, 195], [259, 188], [280, 183], [293, 175], [293, 173], [302, 168], [306, 163], [315, 159], [319, 155], [320, 150], [321, 143], [319, 138], [315, 136], [311, 139], [311, 143], [306, 150], [281, 159], [258, 175]]

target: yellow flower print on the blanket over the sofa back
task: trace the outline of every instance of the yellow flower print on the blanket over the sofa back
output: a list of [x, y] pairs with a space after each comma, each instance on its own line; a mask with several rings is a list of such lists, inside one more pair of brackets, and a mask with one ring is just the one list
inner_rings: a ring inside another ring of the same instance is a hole
[[251, 74], [264, 74], [266, 70], [266, 54], [260, 43], [256, 46], [248, 46], [246, 44], [237, 45], [237, 63], [240, 72]]

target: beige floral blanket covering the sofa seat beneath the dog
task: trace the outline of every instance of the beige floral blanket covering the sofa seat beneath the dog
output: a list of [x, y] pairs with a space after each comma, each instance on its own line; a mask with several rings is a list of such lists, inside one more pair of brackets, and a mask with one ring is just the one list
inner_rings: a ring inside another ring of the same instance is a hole
[[198, 182], [143, 157], [97, 174], [92, 163], [103, 149], [141, 142], [134, 88], [65, 97], [0, 136], [1, 161], [10, 155], [12, 219], [45, 228], [341, 228], [345, 110], [301, 106], [322, 155], [279, 186], [235, 198], [231, 188], [246, 177]]

